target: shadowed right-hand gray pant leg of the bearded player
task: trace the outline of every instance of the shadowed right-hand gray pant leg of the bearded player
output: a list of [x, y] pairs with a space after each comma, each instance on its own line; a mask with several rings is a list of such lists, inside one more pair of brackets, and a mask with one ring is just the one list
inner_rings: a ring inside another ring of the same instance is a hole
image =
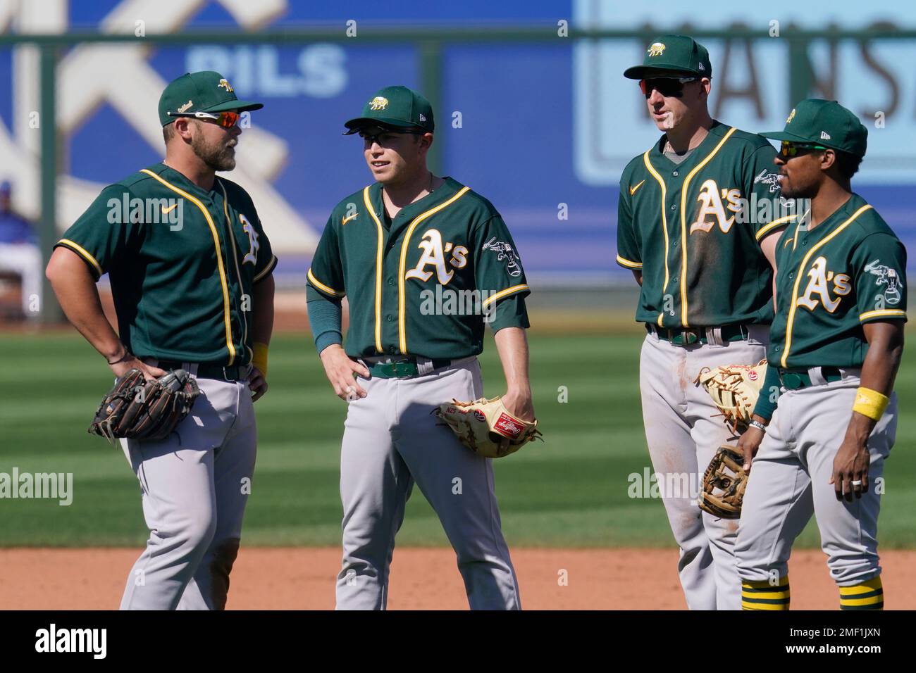
[[255, 472], [257, 428], [251, 390], [238, 389], [238, 414], [223, 445], [213, 450], [216, 530], [197, 571], [185, 588], [179, 610], [224, 610], [229, 573], [242, 538], [245, 505]]

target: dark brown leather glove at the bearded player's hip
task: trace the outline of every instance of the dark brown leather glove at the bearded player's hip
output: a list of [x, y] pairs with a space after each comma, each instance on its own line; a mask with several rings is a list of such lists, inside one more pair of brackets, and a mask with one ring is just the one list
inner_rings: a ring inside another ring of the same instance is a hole
[[164, 440], [200, 394], [197, 381], [183, 369], [152, 381], [146, 381], [139, 369], [131, 369], [104, 396], [89, 432], [112, 442], [118, 437]]

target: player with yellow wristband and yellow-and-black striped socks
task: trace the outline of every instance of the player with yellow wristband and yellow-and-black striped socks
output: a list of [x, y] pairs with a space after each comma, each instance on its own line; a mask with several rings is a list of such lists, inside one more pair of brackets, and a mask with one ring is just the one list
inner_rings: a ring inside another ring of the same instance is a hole
[[782, 193], [810, 199], [811, 214], [778, 247], [767, 376], [739, 442], [753, 467], [736, 543], [742, 607], [789, 609], [792, 543], [814, 514], [840, 607], [879, 610], [878, 510], [897, 429], [906, 250], [852, 191], [867, 141], [856, 114], [810, 99], [785, 130], [763, 135], [782, 143]]

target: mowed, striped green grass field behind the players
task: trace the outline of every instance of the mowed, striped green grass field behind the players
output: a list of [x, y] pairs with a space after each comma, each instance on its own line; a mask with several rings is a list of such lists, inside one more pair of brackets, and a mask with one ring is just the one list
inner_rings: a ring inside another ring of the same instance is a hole
[[[503, 526], [514, 546], [672, 546], [660, 500], [630, 499], [627, 475], [649, 467], [638, 401], [638, 336], [532, 335], [531, 376], [545, 443], [496, 461]], [[138, 546], [139, 487], [120, 449], [86, 433], [111, 385], [101, 358], [67, 334], [0, 336], [0, 472], [72, 472], [73, 502], [0, 500], [0, 546]], [[257, 403], [260, 442], [245, 544], [340, 544], [339, 450], [345, 405], [304, 337], [271, 346], [270, 391]], [[496, 349], [486, 393], [503, 392]], [[568, 401], [558, 401], [565, 386]], [[916, 348], [898, 377], [900, 424], [886, 469], [884, 548], [916, 546]], [[51, 419], [54, 420], [51, 420]], [[800, 544], [817, 546], [809, 526]], [[445, 546], [415, 489], [399, 544]]]

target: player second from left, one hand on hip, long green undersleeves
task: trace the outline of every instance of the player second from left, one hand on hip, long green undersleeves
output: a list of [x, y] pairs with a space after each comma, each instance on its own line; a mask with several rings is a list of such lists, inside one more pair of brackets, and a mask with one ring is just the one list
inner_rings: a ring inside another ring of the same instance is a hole
[[519, 609], [490, 460], [431, 415], [444, 401], [482, 396], [476, 355], [488, 322], [507, 410], [534, 418], [529, 287], [515, 244], [489, 201], [426, 167], [434, 121], [419, 93], [386, 87], [346, 127], [362, 136], [376, 182], [334, 207], [308, 274], [315, 344], [334, 392], [349, 401], [337, 607], [386, 607], [395, 535], [416, 482], [455, 549], [471, 608]]

